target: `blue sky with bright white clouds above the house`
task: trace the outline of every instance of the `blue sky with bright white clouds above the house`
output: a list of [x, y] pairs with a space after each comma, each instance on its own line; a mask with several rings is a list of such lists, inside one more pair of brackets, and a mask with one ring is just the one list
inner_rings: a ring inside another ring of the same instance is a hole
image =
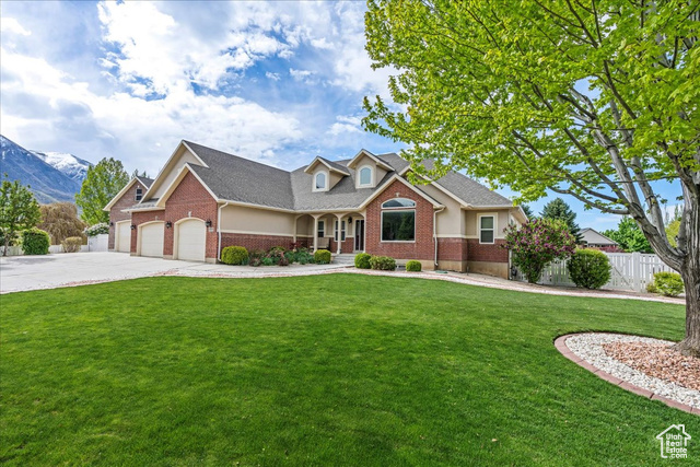
[[[0, 130], [27, 149], [114, 156], [151, 175], [180, 139], [288, 170], [317, 154], [398, 151], [360, 127], [362, 97], [388, 100], [392, 72], [370, 67], [364, 11], [364, 2], [1, 2]], [[677, 186], [660, 188], [677, 202]], [[582, 226], [617, 224], [564, 199]]]

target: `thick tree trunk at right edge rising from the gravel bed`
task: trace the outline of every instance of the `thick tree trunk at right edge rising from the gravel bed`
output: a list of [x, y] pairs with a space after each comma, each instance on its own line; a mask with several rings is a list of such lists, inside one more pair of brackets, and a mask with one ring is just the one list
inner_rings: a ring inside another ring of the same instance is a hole
[[686, 338], [676, 348], [685, 355], [700, 357], [700, 212], [689, 207], [687, 252], [680, 276], [686, 287]]

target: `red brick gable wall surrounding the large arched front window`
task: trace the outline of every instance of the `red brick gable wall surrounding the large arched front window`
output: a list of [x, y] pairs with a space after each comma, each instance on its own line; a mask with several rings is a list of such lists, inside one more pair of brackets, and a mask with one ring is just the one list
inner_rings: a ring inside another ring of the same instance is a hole
[[[416, 201], [416, 242], [382, 242], [382, 203], [392, 198], [408, 198]], [[386, 255], [397, 259], [433, 259], [433, 205], [416, 191], [396, 180], [392, 183], [369, 206], [366, 211], [365, 250], [371, 255]]]

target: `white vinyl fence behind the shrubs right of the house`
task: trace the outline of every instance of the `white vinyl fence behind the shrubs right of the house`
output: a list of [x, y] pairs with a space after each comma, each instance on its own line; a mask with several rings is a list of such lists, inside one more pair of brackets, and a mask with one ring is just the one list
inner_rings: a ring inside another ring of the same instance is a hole
[[[656, 272], [676, 272], [656, 255], [644, 253], [606, 253], [606, 255], [610, 260], [611, 270], [610, 280], [603, 285], [603, 289], [645, 292], [646, 284], [653, 282]], [[515, 279], [523, 282], [527, 281], [520, 270]], [[567, 260], [555, 261], [546, 267], [538, 283], [542, 285], [575, 287], [569, 279]]]

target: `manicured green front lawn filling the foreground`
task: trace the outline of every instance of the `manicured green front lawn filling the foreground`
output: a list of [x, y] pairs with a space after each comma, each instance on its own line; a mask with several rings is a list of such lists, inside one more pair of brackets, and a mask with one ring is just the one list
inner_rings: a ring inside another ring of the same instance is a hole
[[678, 340], [684, 308], [332, 275], [152, 278], [3, 295], [8, 465], [661, 465], [700, 417], [552, 340]]

